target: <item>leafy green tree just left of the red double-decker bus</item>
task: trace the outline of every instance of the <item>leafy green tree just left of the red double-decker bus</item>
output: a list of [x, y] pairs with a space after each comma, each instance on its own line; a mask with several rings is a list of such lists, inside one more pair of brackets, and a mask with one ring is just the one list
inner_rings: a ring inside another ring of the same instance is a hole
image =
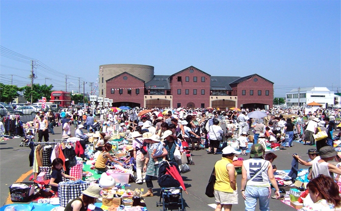
[[46, 101], [50, 101], [52, 88], [53, 88], [52, 84], [48, 86], [46, 84], [40, 85], [38, 83], [38, 84], [33, 84], [33, 90], [31, 89], [30, 86], [24, 86], [23, 91], [24, 91], [24, 95], [27, 101], [31, 100], [31, 93], [32, 93], [32, 98], [33, 98], [32, 103], [36, 103], [42, 97], [46, 97]]

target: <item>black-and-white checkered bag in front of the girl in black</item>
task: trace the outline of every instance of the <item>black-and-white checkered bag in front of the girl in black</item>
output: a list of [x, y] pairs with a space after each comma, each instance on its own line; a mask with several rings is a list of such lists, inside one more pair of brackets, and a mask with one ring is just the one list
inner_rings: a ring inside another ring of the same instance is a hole
[[68, 202], [79, 197], [89, 184], [90, 182], [82, 180], [60, 182], [58, 184], [59, 206], [65, 208]]

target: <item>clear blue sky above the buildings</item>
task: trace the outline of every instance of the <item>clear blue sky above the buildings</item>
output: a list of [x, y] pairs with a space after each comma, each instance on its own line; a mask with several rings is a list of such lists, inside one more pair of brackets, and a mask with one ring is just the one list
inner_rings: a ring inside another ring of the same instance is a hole
[[156, 75], [191, 65], [213, 76], [257, 73], [275, 83], [275, 97], [299, 86], [341, 91], [337, 0], [1, 0], [0, 6], [1, 47], [12, 51], [1, 49], [4, 83], [11, 74], [14, 84], [29, 83], [29, 58], [20, 53], [45, 64], [35, 82], [51, 78], [55, 89], [65, 89], [66, 74], [67, 89], [78, 90], [77, 77], [96, 82], [100, 65], [127, 63], [154, 66]]

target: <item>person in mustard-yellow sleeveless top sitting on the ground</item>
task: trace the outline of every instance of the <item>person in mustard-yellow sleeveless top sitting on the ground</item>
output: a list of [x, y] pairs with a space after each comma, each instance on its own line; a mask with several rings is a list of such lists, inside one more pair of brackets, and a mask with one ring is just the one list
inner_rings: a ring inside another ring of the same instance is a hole
[[110, 151], [112, 149], [112, 145], [106, 143], [104, 145], [104, 147], [102, 148], [102, 152], [101, 154], [98, 156], [96, 163], [95, 163], [95, 171], [98, 174], [104, 173], [106, 170], [108, 170], [108, 166], [106, 166], [108, 159], [111, 160], [112, 162], [115, 162], [119, 165], [123, 165], [121, 162], [115, 160], [114, 158], [116, 158], [115, 156], [111, 156], [110, 155]]

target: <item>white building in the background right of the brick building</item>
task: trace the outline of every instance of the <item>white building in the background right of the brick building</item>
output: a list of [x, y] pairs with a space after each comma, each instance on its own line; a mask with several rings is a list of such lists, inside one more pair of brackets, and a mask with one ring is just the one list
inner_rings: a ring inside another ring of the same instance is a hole
[[286, 94], [287, 106], [304, 106], [312, 102], [322, 104], [323, 108], [334, 105], [334, 91], [327, 87], [297, 88]]

